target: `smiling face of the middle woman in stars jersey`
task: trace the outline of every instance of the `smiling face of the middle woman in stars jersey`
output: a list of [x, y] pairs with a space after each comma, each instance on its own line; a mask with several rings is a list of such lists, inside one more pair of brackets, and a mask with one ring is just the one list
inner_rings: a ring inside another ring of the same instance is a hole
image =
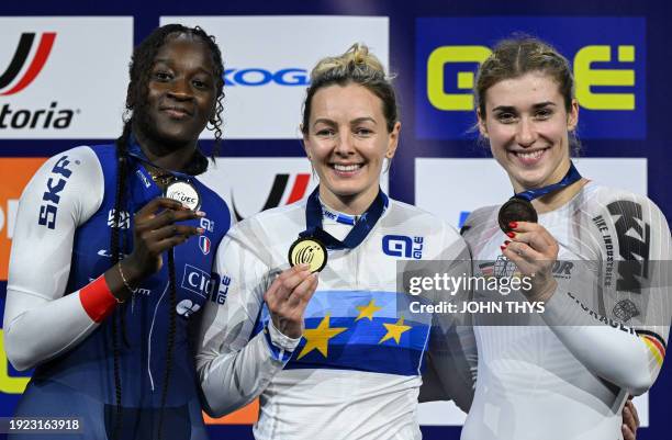
[[382, 101], [350, 82], [315, 92], [305, 151], [320, 177], [320, 198], [348, 214], [362, 214], [378, 194], [384, 158], [392, 159], [401, 124], [388, 132]]

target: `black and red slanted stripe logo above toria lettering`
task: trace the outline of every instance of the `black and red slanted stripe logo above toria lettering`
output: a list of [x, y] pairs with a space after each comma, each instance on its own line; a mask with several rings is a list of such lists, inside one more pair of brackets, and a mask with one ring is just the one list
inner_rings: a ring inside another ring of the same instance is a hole
[[[40, 35], [40, 43], [37, 43], [37, 48], [34, 52], [33, 59], [30, 61], [29, 67], [23, 69], [29, 59], [31, 49], [33, 48], [35, 33], [26, 32], [21, 34], [14, 56], [9, 63], [7, 69], [4, 69], [4, 72], [0, 76], [0, 95], [19, 93], [29, 87], [31, 82], [35, 80], [35, 78], [37, 78], [42, 71], [42, 68], [46, 64], [47, 58], [49, 57], [55, 40], [55, 32], [44, 32], [42, 35]], [[19, 72], [22, 70], [24, 70], [23, 76], [14, 82], [19, 76]], [[14, 82], [14, 84], [11, 88], [3, 90], [12, 82]]]

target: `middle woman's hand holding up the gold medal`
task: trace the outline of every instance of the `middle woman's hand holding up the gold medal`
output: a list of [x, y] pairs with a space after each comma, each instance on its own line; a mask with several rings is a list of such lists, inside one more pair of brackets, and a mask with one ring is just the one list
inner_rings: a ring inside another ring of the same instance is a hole
[[264, 294], [273, 326], [290, 338], [303, 335], [303, 315], [317, 289], [317, 274], [307, 264], [298, 264], [278, 275]]

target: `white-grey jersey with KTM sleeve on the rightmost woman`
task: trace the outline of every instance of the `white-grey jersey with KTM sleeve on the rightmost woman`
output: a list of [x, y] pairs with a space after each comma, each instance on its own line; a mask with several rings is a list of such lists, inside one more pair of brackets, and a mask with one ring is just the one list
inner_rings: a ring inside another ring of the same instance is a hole
[[[515, 270], [501, 255], [497, 212], [478, 210], [466, 223], [474, 274]], [[647, 198], [589, 182], [539, 224], [560, 245], [559, 289], [544, 315], [496, 326], [475, 317], [478, 381], [462, 440], [620, 439], [625, 399], [651, 386], [664, 357], [668, 223]]]

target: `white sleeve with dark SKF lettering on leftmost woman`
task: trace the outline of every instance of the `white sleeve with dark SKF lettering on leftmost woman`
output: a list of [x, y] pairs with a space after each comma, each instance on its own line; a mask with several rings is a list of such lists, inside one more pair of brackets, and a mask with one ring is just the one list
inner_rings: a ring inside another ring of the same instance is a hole
[[78, 147], [47, 160], [21, 195], [4, 307], [4, 347], [16, 370], [67, 351], [97, 326], [79, 292], [65, 289], [75, 230], [100, 207], [103, 187], [96, 154]]

